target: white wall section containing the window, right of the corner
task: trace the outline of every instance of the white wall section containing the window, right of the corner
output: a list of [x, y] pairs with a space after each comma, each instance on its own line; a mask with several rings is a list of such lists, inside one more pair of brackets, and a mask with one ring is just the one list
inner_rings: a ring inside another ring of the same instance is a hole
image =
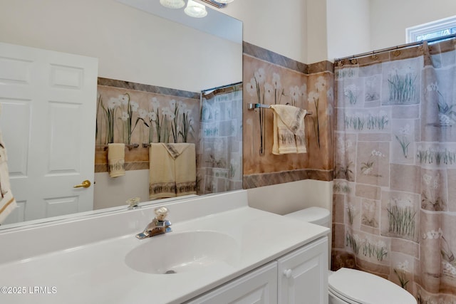
[[371, 48], [398, 46], [405, 28], [455, 15], [454, 0], [371, 0]]

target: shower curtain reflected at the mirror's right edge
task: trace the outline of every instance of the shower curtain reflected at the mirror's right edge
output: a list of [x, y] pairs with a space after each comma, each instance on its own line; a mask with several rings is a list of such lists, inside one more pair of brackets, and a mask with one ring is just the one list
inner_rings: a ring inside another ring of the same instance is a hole
[[202, 92], [197, 194], [242, 189], [242, 83]]

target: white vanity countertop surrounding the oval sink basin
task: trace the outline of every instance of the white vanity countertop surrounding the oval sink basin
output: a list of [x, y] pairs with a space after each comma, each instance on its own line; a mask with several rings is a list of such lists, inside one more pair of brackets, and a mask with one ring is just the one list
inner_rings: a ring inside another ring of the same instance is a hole
[[[236, 261], [167, 275], [142, 273], [125, 263], [125, 256], [136, 246], [198, 230], [232, 236]], [[1, 263], [0, 303], [182, 303], [327, 233], [321, 226], [241, 206], [173, 221], [172, 232], [150, 239], [128, 234]], [[16, 294], [5, 293], [4, 286]]]

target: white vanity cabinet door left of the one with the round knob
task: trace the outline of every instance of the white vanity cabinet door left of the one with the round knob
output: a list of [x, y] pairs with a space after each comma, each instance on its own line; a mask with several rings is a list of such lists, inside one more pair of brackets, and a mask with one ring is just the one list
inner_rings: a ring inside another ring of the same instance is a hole
[[277, 303], [277, 263], [274, 261], [266, 264], [188, 303], [275, 304]]

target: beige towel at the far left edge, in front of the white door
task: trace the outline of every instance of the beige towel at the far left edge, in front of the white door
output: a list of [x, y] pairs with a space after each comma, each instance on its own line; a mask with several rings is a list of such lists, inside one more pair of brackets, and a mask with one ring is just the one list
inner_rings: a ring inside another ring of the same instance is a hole
[[0, 224], [17, 206], [9, 184], [7, 160], [5, 144], [0, 133]]

